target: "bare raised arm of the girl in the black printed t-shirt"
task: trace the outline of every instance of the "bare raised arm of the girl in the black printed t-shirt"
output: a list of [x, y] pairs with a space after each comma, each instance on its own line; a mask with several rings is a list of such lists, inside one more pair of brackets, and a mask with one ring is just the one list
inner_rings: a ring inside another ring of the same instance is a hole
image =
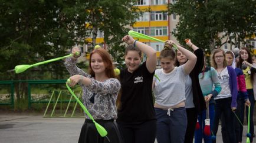
[[156, 69], [156, 50], [152, 47], [146, 45], [145, 43], [134, 40], [132, 36], [126, 35], [122, 39], [122, 41], [126, 42], [129, 45], [134, 45], [138, 47], [143, 53], [146, 54], [146, 67], [150, 73], [153, 73]]

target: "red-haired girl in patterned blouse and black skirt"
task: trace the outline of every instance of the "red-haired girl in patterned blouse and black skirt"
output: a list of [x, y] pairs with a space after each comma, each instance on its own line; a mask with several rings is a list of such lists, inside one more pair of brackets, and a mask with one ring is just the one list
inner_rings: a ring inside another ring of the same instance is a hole
[[[72, 53], [80, 52], [73, 47]], [[75, 55], [75, 54], [74, 54]], [[83, 89], [83, 103], [93, 118], [108, 132], [107, 137], [101, 137], [94, 122], [86, 115], [81, 128], [79, 143], [123, 142], [117, 124], [116, 99], [121, 88], [120, 81], [115, 78], [113, 62], [104, 49], [94, 49], [90, 53], [89, 73], [76, 66], [77, 56], [67, 58], [65, 67], [71, 74], [71, 87], [80, 84]]]

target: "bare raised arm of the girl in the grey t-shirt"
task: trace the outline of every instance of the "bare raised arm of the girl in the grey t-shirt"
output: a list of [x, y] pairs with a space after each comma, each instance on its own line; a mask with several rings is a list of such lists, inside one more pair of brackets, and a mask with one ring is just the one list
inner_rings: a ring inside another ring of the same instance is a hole
[[[170, 45], [175, 44], [172, 40], [169, 40], [167, 43]], [[188, 62], [184, 64], [184, 70], [186, 74], [191, 73], [191, 71], [193, 70], [193, 67], [195, 67], [195, 64], [196, 64], [196, 56], [189, 50], [185, 49], [184, 47], [179, 46], [177, 44], [175, 45], [178, 47], [178, 50], [180, 52], [182, 52], [186, 57], [188, 57]]]

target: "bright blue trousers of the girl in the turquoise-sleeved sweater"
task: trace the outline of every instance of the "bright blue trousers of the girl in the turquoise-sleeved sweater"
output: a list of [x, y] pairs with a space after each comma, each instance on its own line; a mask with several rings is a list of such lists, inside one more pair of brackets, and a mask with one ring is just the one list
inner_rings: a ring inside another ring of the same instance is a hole
[[[210, 129], [212, 131], [212, 127], [214, 125], [214, 117], [215, 117], [215, 104], [209, 104], [209, 118], [210, 118]], [[195, 143], [202, 143], [202, 138], [204, 138], [205, 143], [212, 142], [212, 136], [208, 136], [204, 134], [205, 128], [205, 119], [206, 119], [206, 110], [202, 111], [201, 114], [198, 115], [198, 122], [200, 128], [195, 131]]]

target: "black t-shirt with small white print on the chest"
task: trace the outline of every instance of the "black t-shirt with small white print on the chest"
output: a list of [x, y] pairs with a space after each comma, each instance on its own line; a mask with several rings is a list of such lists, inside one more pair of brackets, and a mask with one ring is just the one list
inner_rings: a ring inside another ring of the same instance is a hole
[[121, 71], [121, 108], [117, 113], [117, 122], [155, 119], [152, 97], [154, 74], [155, 72], [149, 73], [146, 62], [133, 73], [130, 73], [127, 68]]

